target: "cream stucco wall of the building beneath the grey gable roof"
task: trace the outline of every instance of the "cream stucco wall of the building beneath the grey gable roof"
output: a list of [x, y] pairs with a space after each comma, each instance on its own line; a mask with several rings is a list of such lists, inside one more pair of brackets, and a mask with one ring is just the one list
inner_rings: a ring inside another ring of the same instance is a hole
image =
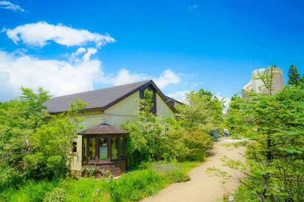
[[[139, 98], [139, 91], [123, 99], [118, 104], [108, 108], [104, 112], [79, 114], [79, 117], [85, 117], [81, 123], [84, 126], [82, 130], [93, 128], [99, 124], [107, 123], [109, 125], [120, 128], [127, 121], [133, 122], [137, 120], [134, 112], [138, 111], [139, 104], [135, 99]], [[157, 115], [162, 117], [174, 117], [174, 112], [168, 107], [164, 100], [157, 93]], [[77, 141], [77, 154], [71, 155], [71, 168], [74, 170], [81, 169], [82, 154], [82, 136], [79, 135]]]

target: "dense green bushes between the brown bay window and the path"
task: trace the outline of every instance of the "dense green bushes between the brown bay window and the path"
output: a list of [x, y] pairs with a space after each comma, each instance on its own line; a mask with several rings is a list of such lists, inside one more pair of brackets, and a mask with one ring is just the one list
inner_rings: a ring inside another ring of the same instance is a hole
[[[213, 138], [202, 130], [172, 129], [159, 131], [158, 123], [149, 129], [139, 124], [125, 123], [130, 131], [126, 141], [127, 170], [136, 170], [142, 163], [153, 161], [204, 161], [206, 151], [213, 147]], [[170, 129], [171, 128], [171, 129]]]

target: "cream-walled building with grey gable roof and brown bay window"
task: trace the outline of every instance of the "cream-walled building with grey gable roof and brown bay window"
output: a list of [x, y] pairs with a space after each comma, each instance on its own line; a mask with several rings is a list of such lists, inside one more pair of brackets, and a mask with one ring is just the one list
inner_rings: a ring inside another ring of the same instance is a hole
[[144, 97], [145, 89], [154, 92], [153, 113], [175, 118], [174, 105], [182, 103], [164, 95], [153, 80], [58, 96], [44, 103], [50, 114], [65, 112], [75, 98], [89, 103], [78, 114], [85, 117], [81, 123], [84, 130], [78, 132], [73, 142], [72, 170], [80, 171], [82, 166], [88, 165], [110, 170], [115, 175], [125, 172], [125, 137], [129, 131], [120, 128], [127, 121], [137, 120], [134, 112], [138, 111], [139, 103], [135, 100]]

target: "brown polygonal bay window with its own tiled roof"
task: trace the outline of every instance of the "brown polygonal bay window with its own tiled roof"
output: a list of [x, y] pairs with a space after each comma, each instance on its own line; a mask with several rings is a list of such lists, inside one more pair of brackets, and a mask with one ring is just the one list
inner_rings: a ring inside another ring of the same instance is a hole
[[126, 135], [130, 132], [100, 124], [78, 133], [82, 135], [82, 164], [110, 170], [114, 175], [126, 171]]

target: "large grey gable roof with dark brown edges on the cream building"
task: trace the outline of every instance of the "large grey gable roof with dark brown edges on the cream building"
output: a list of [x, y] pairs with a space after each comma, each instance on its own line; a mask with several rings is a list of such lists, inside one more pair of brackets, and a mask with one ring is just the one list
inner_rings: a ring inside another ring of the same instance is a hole
[[140, 81], [136, 83], [53, 97], [52, 99], [45, 102], [43, 106], [46, 106], [48, 108], [49, 113], [65, 112], [70, 109], [69, 102], [75, 102], [75, 98], [79, 98], [82, 99], [83, 102], [89, 103], [86, 106], [86, 109], [81, 113], [98, 111], [103, 112], [104, 110], [121, 102], [121, 100], [127, 98], [128, 96], [148, 85], [153, 85], [157, 93], [162, 97], [169, 108], [174, 113], [178, 113], [172, 104], [168, 101], [167, 97], [153, 82], [153, 80]]

